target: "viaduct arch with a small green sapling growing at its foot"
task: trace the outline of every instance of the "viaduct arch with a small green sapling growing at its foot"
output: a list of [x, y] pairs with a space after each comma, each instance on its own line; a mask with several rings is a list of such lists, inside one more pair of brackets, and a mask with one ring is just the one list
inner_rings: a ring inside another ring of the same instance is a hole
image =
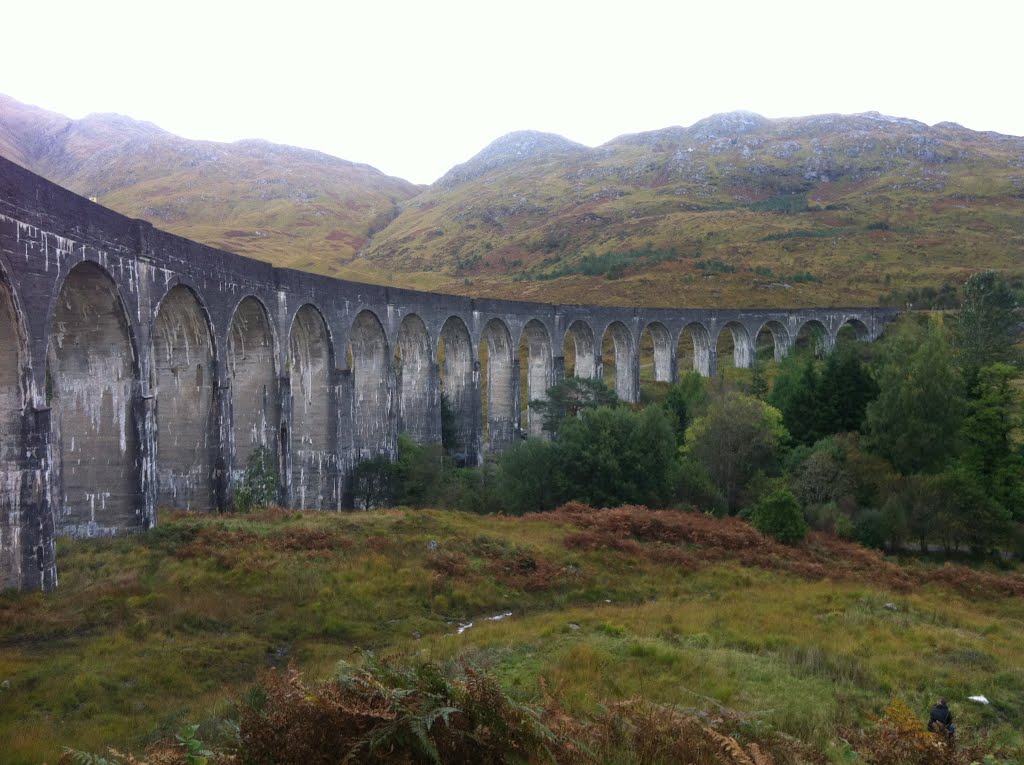
[[281, 391], [273, 328], [263, 303], [244, 298], [234, 308], [227, 333], [227, 371], [231, 385], [231, 478], [236, 486], [250, 457], [266, 450], [279, 468]]

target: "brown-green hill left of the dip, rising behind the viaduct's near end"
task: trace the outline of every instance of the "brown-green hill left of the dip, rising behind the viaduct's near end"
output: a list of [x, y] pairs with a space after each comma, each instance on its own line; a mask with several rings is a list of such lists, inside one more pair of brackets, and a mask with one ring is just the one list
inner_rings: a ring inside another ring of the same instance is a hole
[[70, 120], [3, 95], [0, 154], [160, 228], [327, 274], [420, 190], [319, 152], [187, 140], [120, 115]]

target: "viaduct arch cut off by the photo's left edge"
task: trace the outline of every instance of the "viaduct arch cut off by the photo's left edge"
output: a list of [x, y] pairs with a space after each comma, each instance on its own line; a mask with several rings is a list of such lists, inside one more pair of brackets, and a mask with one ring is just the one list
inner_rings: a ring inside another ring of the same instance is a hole
[[0, 269], [0, 589], [22, 584], [22, 419], [28, 358], [17, 299]]

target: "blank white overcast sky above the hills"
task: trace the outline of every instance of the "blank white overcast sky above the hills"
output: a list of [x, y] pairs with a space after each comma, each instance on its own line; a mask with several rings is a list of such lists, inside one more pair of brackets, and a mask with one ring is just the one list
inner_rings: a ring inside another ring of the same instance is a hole
[[12, 0], [0, 92], [430, 182], [500, 135], [589, 145], [878, 111], [1024, 135], [1021, 0]]

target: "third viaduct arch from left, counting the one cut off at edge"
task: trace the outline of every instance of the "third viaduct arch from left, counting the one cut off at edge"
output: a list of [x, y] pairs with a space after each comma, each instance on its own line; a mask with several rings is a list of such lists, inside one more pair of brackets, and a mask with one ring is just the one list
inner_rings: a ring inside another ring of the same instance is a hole
[[215, 358], [206, 309], [189, 288], [171, 288], [153, 323], [159, 505], [207, 510], [216, 504]]

